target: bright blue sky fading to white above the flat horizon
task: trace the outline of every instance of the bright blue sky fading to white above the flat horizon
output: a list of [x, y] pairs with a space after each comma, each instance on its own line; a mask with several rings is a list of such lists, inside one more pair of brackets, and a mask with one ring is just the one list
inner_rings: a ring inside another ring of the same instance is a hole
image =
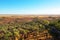
[[60, 14], [60, 0], [0, 0], [0, 14]]

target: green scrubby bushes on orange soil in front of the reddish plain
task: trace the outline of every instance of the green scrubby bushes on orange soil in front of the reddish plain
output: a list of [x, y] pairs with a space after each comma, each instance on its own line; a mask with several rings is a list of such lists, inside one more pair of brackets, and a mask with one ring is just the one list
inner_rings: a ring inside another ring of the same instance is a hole
[[[0, 21], [4, 20], [0, 18]], [[29, 22], [15, 19], [0, 24], [0, 40], [56, 40], [60, 39], [60, 20], [41, 20], [33, 18]], [[27, 20], [28, 21], [28, 20]], [[49, 34], [49, 35], [48, 35]], [[43, 35], [43, 36], [42, 36]]]

